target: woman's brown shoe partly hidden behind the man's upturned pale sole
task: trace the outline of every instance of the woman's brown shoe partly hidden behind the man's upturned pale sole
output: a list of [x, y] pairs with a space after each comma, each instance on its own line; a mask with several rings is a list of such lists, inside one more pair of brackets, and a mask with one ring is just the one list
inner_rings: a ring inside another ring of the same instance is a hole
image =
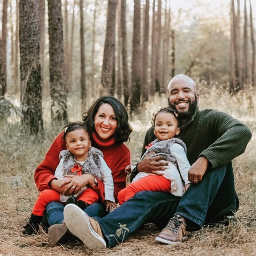
[[55, 224], [48, 229], [49, 240], [52, 243], [60, 243], [68, 240], [69, 236], [72, 236], [68, 232], [68, 227], [64, 224]]

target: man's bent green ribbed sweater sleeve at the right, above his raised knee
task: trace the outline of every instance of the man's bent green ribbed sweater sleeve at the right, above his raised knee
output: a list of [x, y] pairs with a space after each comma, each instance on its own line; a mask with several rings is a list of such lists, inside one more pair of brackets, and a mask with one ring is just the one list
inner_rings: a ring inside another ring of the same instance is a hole
[[[209, 167], [222, 166], [231, 162], [238, 155], [241, 155], [251, 139], [249, 127], [230, 115], [214, 110], [207, 115], [211, 122], [205, 125], [204, 129], [214, 130], [216, 141], [203, 150], [199, 156], [205, 156], [209, 162]], [[203, 128], [203, 127], [202, 127]]]

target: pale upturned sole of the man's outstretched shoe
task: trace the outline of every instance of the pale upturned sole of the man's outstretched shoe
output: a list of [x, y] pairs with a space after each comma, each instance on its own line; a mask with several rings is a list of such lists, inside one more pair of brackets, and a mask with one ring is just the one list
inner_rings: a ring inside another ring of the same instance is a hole
[[88, 249], [106, 247], [105, 240], [92, 229], [89, 217], [77, 205], [68, 204], [65, 206], [64, 220], [69, 231], [79, 238]]

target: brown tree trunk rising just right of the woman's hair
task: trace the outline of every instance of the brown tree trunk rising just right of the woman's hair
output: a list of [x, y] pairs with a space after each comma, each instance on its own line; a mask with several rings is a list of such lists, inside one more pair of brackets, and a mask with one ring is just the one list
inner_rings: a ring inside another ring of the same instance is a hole
[[131, 61], [130, 114], [138, 112], [141, 101], [141, 1], [134, 0], [133, 55]]

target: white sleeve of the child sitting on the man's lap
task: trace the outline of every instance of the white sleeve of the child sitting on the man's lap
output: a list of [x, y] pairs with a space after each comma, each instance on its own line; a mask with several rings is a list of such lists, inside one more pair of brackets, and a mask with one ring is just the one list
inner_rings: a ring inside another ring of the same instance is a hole
[[177, 144], [177, 143], [172, 144], [170, 148], [171, 148], [172, 154], [175, 156], [177, 160], [180, 175], [184, 180], [185, 184], [187, 185], [188, 183], [190, 183], [190, 181], [188, 181], [188, 171], [191, 166], [188, 162], [185, 150], [182, 146], [180, 146], [180, 144]]

